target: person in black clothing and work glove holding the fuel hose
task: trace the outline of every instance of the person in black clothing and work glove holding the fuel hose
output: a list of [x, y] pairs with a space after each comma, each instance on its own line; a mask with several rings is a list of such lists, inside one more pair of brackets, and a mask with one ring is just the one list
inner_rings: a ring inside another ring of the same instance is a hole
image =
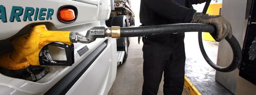
[[[206, 0], [141, 0], [140, 22], [143, 26], [172, 23], [207, 23], [215, 26], [216, 41], [231, 37], [230, 23], [222, 16], [197, 13], [193, 4]], [[157, 94], [162, 75], [164, 94], [182, 94], [184, 84], [184, 33], [146, 36], [143, 41], [142, 94]]]

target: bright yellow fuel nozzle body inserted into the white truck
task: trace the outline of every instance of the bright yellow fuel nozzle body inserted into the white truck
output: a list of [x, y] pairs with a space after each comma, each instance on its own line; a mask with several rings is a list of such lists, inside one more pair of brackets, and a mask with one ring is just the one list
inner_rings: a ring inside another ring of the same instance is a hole
[[49, 31], [45, 25], [34, 26], [29, 34], [11, 40], [14, 50], [0, 55], [0, 66], [18, 70], [29, 65], [40, 65], [39, 53], [42, 47], [51, 42], [72, 44], [71, 31]]

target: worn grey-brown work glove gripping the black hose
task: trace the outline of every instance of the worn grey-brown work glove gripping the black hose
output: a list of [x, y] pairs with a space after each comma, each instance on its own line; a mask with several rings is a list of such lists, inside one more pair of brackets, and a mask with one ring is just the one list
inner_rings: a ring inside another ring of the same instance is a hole
[[216, 29], [216, 33], [212, 33], [211, 36], [214, 37], [216, 41], [221, 41], [225, 37], [232, 37], [232, 29], [230, 23], [220, 15], [195, 13], [191, 22], [213, 25]]

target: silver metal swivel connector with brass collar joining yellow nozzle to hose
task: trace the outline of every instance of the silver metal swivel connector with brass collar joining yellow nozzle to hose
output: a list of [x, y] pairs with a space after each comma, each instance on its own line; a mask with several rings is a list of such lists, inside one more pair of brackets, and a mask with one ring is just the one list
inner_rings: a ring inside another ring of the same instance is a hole
[[81, 42], [81, 43], [91, 43], [96, 40], [96, 38], [104, 38], [104, 37], [112, 37], [119, 38], [120, 37], [120, 27], [93, 27], [87, 31], [86, 36], [79, 33], [70, 33], [70, 40], [72, 42]]

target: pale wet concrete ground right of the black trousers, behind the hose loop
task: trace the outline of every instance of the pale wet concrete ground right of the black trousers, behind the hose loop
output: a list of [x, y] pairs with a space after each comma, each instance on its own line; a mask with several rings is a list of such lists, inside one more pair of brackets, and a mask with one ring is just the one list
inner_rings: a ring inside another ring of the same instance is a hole
[[[215, 80], [216, 70], [204, 60], [198, 45], [198, 33], [186, 33], [185, 76], [202, 94], [232, 94]], [[218, 42], [203, 41], [204, 48], [212, 62], [217, 62]]]

